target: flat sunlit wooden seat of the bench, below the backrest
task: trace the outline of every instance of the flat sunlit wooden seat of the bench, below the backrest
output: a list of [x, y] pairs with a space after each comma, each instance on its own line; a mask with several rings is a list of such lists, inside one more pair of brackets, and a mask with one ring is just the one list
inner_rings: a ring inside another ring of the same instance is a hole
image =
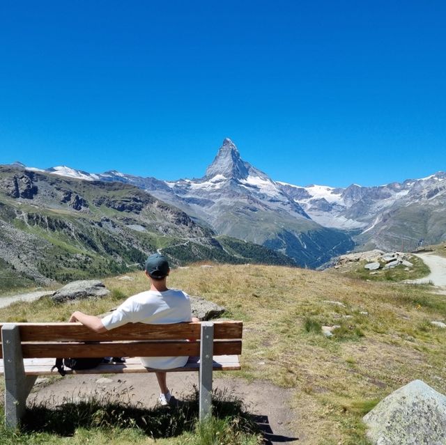
[[[56, 359], [24, 359], [26, 375], [59, 375], [57, 370], [51, 371]], [[169, 369], [171, 372], [186, 372], [199, 370], [199, 357], [190, 357], [183, 368]], [[213, 370], [240, 370], [238, 355], [215, 355], [213, 357]], [[129, 357], [124, 364], [101, 364], [93, 369], [71, 370], [66, 368], [67, 375], [78, 374], [128, 374], [151, 373], [155, 370], [144, 368], [137, 357]], [[0, 374], [3, 374], [3, 360], [0, 360]]]

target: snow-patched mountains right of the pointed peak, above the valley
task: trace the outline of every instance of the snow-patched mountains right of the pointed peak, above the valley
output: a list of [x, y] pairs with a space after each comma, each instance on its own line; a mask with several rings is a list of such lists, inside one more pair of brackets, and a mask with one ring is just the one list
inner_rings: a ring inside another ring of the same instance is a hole
[[279, 182], [282, 190], [327, 227], [356, 229], [360, 249], [415, 249], [446, 239], [446, 173], [378, 187], [344, 188]]

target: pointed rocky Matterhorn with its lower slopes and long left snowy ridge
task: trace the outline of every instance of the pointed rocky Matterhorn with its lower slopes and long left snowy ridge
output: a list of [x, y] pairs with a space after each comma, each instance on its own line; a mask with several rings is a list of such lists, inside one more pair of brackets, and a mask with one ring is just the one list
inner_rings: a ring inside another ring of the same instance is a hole
[[348, 233], [313, 221], [281, 185], [243, 161], [231, 139], [224, 139], [214, 161], [199, 179], [162, 181], [118, 171], [86, 173], [66, 166], [47, 172], [134, 185], [183, 210], [219, 235], [274, 249], [304, 267], [318, 267], [354, 247]]

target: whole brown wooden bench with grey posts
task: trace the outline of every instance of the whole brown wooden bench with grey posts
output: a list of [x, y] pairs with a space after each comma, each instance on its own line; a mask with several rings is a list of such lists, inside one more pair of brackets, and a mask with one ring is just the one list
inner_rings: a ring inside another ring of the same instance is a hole
[[[239, 370], [242, 322], [186, 322], [174, 325], [130, 323], [96, 334], [80, 323], [0, 323], [0, 374], [5, 378], [6, 425], [20, 423], [39, 375], [51, 371], [55, 357], [130, 357], [123, 364], [101, 364], [87, 370], [67, 369], [68, 375], [155, 372], [137, 357], [189, 356], [183, 368], [199, 371], [199, 419], [211, 412], [213, 370]], [[97, 343], [84, 343], [84, 342]]]

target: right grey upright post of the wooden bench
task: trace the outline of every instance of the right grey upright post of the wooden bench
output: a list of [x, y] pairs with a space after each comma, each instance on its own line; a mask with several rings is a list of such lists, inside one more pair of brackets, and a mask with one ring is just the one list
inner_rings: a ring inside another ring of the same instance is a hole
[[199, 421], [212, 414], [212, 370], [214, 349], [214, 324], [201, 323], [200, 342], [200, 403]]

